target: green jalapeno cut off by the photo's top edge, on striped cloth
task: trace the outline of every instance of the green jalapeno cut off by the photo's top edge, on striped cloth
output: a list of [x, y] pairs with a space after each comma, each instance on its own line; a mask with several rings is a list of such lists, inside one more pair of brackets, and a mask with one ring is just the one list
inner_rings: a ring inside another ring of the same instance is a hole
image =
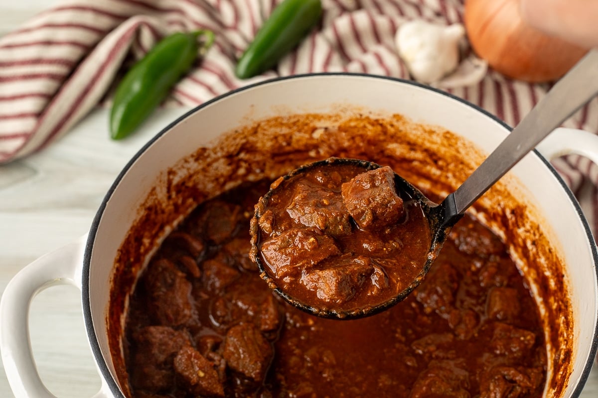
[[280, 3], [239, 59], [234, 70], [237, 78], [251, 78], [276, 65], [318, 23], [321, 15], [320, 0]]

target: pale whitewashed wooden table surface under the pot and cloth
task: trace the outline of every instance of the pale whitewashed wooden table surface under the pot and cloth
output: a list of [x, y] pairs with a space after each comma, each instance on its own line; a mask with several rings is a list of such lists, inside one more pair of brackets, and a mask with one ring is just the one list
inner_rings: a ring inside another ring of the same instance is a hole
[[[0, 35], [55, 1], [2, 0]], [[143, 131], [115, 143], [106, 109], [97, 109], [44, 152], [0, 166], [0, 294], [35, 258], [83, 235], [112, 181], [135, 152], [186, 109], [161, 109]], [[30, 310], [30, 338], [38, 371], [62, 398], [91, 397], [100, 380], [87, 343], [80, 292], [57, 286]], [[598, 369], [581, 394], [598, 397]], [[0, 363], [0, 397], [13, 397]]]

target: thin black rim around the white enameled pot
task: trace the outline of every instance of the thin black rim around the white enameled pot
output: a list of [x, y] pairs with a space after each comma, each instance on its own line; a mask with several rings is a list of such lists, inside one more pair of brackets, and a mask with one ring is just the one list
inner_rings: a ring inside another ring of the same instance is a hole
[[[254, 84], [249, 84], [249, 85], [246, 85], [243, 87], [236, 88], [235, 90], [225, 92], [224, 94], [218, 95], [217, 97], [214, 97], [211, 100], [206, 101], [205, 103], [194, 107], [193, 109], [184, 113], [184, 115], [176, 118], [175, 121], [171, 122], [169, 125], [167, 125], [163, 129], [161, 129], [160, 132], [158, 132], [143, 147], [141, 147], [141, 149], [139, 149], [139, 151], [133, 156], [133, 158], [131, 158], [130, 161], [127, 162], [127, 164], [124, 166], [124, 168], [118, 174], [117, 178], [114, 180], [114, 183], [112, 183], [112, 186], [110, 187], [108, 192], [106, 192], [106, 195], [104, 196], [102, 203], [100, 204], [100, 207], [97, 210], [95, 217], [93, 218], [93, 221], [91, 223], [90, 230], [89, 230], [89, 235], [87, 237], [86, 248], [85, 248], [84, 256], [83, 256], [83, 272], [82, 272], [82, 281], [81, 281], [82, 287], [83, 287], [82, 291], [81, 291], [81, 296], [82, 296], [82, 301], [83, 301], [83, 319], [85, 322], [85, 328], [86, 328], [87, 337], [89, 339], [89, 343], [91, 346], [91, 351], [93, 353], [94, 359], [96, 360], [97, 367], [100, 371], [100, 374], [102, 375], [103, 380], [106, 382], [109, 390], [111, 391], [111, 393], [114, 395], [115, 398], [125, 398], [125, 397], [124, 397], [124, 394], [122, 393], [122, 391], [120, 390], [120, 387], [118, 387], [117, 381], [114, 379], [114, 377], [112, 376], [111, 372], [108, 369], [108, 364], [106, 363], [106, 360], [103, 357], [102, 349], [100, 348], [99, 342], [97, 341], [96, 332], [93, 327], [93, 318], [91, 317], [91, 304], [90, 304], [90, 296], [89, 296], [89, 270], [90, 270], [90, 265], [91, 265], [91, 252], [93, 251], [93, 243], [94, 243], [94, 240], [96, 239], [97, 229], [98, 229], [100, 220], [102, 219], [102, 215], [106, 209], [106, 205], [108, 204], [108, 201], [111, 199], [112, 194], [118, 187], [118, 184], [120, 184], [120, 181], [123, 179], [124, 175], [129, 171], [129, 169], [132, 167], [133, 163], [135, 163], [137, 161], [137, 159], [139, 157], [141, 157], [143, 155], [143, 153], [150, 146], [152, 146], [155, 143], [155, 141], [158, 140], [158, 138], [160, 138], [162, 135], [166, 134], [166, 132], [170, 131], [170, 129], [175, 127], [175, 125], [177, 125], [179, 122], [181, 122], [184, 119], [188, 118], [189, 116], [193, 115], [193, 113], [198, 112], [199, 110], [205, 108], [206, 106], [208, 106], [212, 103], [215, 103], [216, 101], [224, 100], [225, 98], [229, 97], [230, 95], [236, 94], [237, 92], [250, 90], [254, 87], [258, 87], [258, 86], [262, 86], [262, 85], [276, 84], [277, 82], [280, 82], [280, 81], [291, 80], [291, 79], [313, 78], [315, 76], [332, 76], [332, 77], [340, 76], [340, 77], [360, 77], [360, 78], [385, 79], [385, 80], [389, 80], [392, 82], [398, 82], [398, 83], [402, 83], [402, 84], [413, 85], [413, 86], [416, 86], [419, 88], [424, 88], [425, 90], [430, 90], [430, 91], [436, 92], [437, 94], [445, 95], [446, 97], [449, 97], [453, 100], [457, 100], [460, 103], [463, 103], [469, 107], [472, 107], [474, 110], [481, 112], [483, 115], [486, 115], [493, 121], [498, 122], [500, 125], [507, 128], [509, 131], [512, 130], [512, 127], [507, 125], [504, 121], [502, 121], [495, 115], [492, 115], [492, 113], [487, 112], [487, 110], [484, 110], [481, 107], [478, 107], [477, 105], [470, 103], [469, 101], [463, 100], [463, 98], [460, 98], [460, 97], [457, 97], [456, 95], [450, 94], [449, 92], [445, 92], [445, 91], [439, 90], [437, 88], [430, 87], [425, 84], [421, 84], [419, 82], [414, 82], [414, 81], [399, 79], [399, 78], [393, 78], [392, 76], [380, 76], [380, 75], [370, 75], [368, 73], [349, 73], [349, 72], [305, 73], [305, 74], [301, 74], [301, 75], [279, 76], [279, 77], [276, 77], [273, 79], [268, 79], [268, 80], [257, 82]], [[573, 193], [571, 192], [569, 187], [565, 184], [565, 181], [563, 181], [563, 179], [560, 177], [560, 175], [556, 171], [556, 169], [554, 169], [553, 166], [550, 164], [550, 162], [548, 162], [547, 159], [544, 158], [544, 156], [540, 155], [540, 153], [537, 150], [534, 149], [533, 153], [535, 153], [535, 155], [539, 157], [539, 159], [544, 163], [544, 165], [547, 166], [548, 170], [550, 170], [550, 172], [552, 172], [554, 177], [557, 178], [557, 181], [559, 181], [560, 186], [565, 190], [566, 194], [568, 195], [570, 202], [573, 203], [573, 206], [575, 207], [575, 210], [578, 214], [579, 220], [581, 221], [581, 223], [584, 227], [585, 234], [588, 238], [588, 242], [590, 242], [592, 257], [594, 260], [594, 272], [596, 273], [596, 275], [598, 277], [598, 252], [597, 252], [597, 248], [596, 248], [596, 242], [594, 241], [592, 232], [590, 230], [590, 226], [582, 212], [579, 202], [577, 201], [577, 199], [575, 198], [575, 195], [573, 195]], [[576, 385], [575, 390], [573, 390], [573, 395], [572, 395], [573, 397], [579, 397], [579, 395], [581, 394], [581, 391], [585, 385], [585, 382], [587, 381], [587, 379], [590, 375], [590, 371], [591, 371], [591, 368], [592, 368], [592, 365], [594, 362], [594, 358], [596, 357], [597, 352], [598, 352], [598, 323], [597, 323], [596, 327], [594, 328], [593, 341], [592, 341], [592, 345], [590, 348], [590, 356], [588, 356], [588, 360], [585, 363], [585, 367], [581, 374], [581, 377], [579, 378], [579, 382]]]

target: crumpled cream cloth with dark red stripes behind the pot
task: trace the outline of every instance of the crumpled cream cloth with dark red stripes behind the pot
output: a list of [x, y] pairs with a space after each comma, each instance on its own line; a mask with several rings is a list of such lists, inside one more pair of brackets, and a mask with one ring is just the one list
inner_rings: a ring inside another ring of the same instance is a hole
[[[277, 75], [365, 72], [408, 79], [395, 48], [407, 20], [462, 23], [462, 0], [323, 0], [321, 26], [263, 76], [240, 81], [234, 64], [282, 0], [66, 0], [0, 38], [0, 163], [43, 149], [109, 98], [123, 66], [162, 36], [210, 29], [215, 45], [172, 91], [169, 101], [196, 106], [215, 95]], [[547, 87], [490, 70], [479, 84], [450, 90], [517, 124]], [[565, 124], [598, 132], [598, 100]], [[579, 156], [556, 163], [577, 192], [598, 186], [598, 167]], [[590, 206], [598, 214], [598, 189]], [[593, 213], [593, 212], [592, 212]], [[589, 214], [591, 217], [593, 214]], [[598, 230], [598, 229], [595, 229]]]

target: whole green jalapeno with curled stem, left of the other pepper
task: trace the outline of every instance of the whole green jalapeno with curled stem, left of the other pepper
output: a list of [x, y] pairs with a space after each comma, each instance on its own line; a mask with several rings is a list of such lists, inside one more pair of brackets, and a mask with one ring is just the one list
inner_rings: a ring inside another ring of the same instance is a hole
[[[200, 36], [205, 38], [201, 47]], [[213, 41], [213, 32], [197, 30], [173, 33], [158, 42], [126, 73], [117, 87], [110, 113], [111, 137], [120, 140], [131, 134], [188, 72], [198, 51], [205, 53]]]

